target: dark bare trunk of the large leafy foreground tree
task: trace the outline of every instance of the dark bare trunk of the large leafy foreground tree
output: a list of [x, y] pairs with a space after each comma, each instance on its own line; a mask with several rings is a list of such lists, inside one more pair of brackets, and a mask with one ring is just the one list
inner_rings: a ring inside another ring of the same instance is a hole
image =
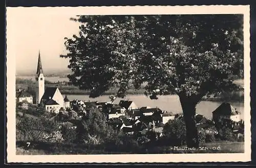
[[199, 148], [198, 132], [196, 126], [196, 105], [195, 100], [179, 95], [186, 125], [186, 143], [188, 148]]

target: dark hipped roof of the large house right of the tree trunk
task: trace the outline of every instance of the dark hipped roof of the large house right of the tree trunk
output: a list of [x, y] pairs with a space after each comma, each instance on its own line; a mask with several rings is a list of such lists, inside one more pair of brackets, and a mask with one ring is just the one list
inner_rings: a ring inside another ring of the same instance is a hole
[[238, 115], [240, 112], [238, 112], [236, 109], [233, 108], [229, 103], [222, 103], [216, 110], [214, 110], [212, 113], [217, 113], [219, 115]]

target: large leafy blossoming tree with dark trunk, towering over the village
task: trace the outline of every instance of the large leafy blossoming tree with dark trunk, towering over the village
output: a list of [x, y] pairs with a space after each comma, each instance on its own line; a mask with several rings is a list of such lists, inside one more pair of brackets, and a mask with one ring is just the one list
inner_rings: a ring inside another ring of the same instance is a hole
[[133, 82], [145, 94], [178, 94], [188, 147], [198, 147], [196, 105], [205, 95], [238, 89], [243, 74], [243, 15], [78, 16], [79, 35], [66, 38], [70, 81], [98, 97]]

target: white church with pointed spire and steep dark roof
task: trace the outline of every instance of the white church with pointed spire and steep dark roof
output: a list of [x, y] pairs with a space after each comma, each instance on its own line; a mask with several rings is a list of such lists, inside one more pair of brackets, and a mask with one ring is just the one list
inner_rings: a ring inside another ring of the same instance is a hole
[[40, 58], [40, 51], [38, 55], [36, 81], [38, 82], [38, 89], [36, 90], [36, 104], [42, 104], [47, 111], [59, 112], [62, 107], [64, 109], [70, 107], [70, 101], [67, 98], [62, 97], [57, 87], [47, 87], [45, 89], [45, 77], [42, 72], [42, 63]]

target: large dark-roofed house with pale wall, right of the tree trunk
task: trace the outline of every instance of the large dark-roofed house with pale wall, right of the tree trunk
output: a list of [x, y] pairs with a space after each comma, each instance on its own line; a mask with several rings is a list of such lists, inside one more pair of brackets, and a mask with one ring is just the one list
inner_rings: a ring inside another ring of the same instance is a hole
[[223, 119], [230, 119], [233, 122], [239, 122], [241, 113], [229, 103], [222, 103], [212, 112], [212, 119], [215, 123], [222, 122]]

